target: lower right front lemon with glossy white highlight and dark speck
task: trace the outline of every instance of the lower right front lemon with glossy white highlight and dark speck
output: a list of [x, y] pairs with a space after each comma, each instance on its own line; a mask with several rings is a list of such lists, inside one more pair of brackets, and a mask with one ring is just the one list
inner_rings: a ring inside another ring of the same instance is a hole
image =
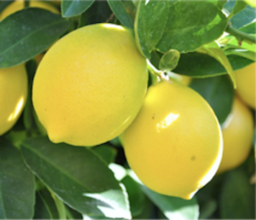
[[194, 90], [175, 82], [148, 89], [123, 142], [131, 169], [148, 188], [185, 200], [212, 179], [223, 152], [212, 108]]

